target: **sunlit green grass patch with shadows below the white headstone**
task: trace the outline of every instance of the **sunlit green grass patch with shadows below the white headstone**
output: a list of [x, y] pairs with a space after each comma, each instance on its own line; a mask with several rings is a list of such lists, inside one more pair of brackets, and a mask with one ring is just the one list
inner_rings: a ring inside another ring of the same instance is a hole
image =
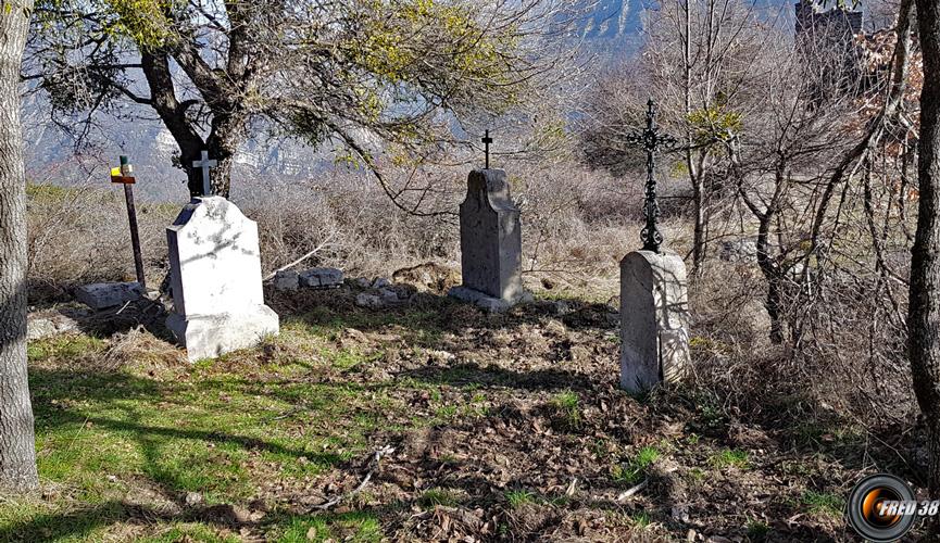
[[[117, 539], [240, 541], [186, 514], [166, 517], [161, 504], [185, 508], [183, 497], [198, 492], [205, 507], [247, 507], [267, 481], [303, 494], [312, 477], [367, 456], [366, 435], [384, 428], [388, 413], [404, 411], [383, 386], [305, 378], [377, 356], [324, 350], [321, 340], [309, 329], [288, 329], [266, 342], [300, 341], [311, 357], [299, 359], [285, 348], [258, 364], [247, 364], [245, 357], [253, 361], [256, 353], [246, 352], [153, 370], [98, 370], [109, 344], [93, 337], [30, 342], [37, 463], [47, 497], [0, 502], [0, 541], [101, 541], [128, 526], [133, 536], [120, 532]], [[127, 496], [145, 498], [131, 506]], [[435, 496], [424, 497], [455, 500]], [[376, 517], [362, 512], [293, 516], [275, 509], [262, 529], [271, 541], [384, 538]]]

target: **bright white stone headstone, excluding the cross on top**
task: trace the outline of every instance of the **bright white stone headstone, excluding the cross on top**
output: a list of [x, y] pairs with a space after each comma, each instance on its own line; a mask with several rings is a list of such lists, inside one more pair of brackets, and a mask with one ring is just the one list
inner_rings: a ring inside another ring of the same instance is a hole
[[190, 361], [254, 345], [279, 330], [264, 305], [258, 225], [221, 197], [193, 199], [166, 229], [173, 313]]

